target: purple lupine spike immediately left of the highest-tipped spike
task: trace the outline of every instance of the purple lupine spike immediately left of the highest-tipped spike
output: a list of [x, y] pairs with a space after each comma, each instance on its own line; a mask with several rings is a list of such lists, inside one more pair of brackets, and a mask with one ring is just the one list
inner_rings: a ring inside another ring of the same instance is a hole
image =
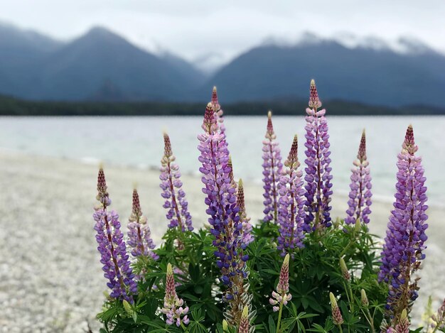
[[302, 248], [304, 239], [304, 189], [303, 173], [299, 170], [298, 138], [294, 141], [285, 168], [279, 178], [279, 237], [277, 249], [282, 256]]

